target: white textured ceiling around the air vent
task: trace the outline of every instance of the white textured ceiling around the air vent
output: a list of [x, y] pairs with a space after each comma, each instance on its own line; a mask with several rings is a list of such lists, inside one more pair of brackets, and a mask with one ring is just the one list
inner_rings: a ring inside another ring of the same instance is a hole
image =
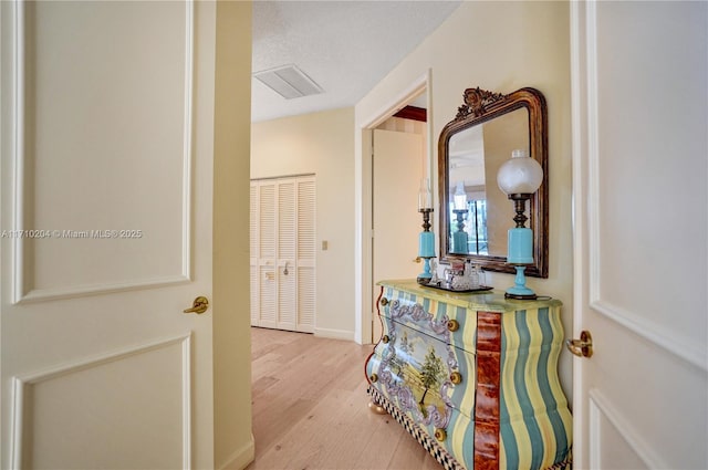
[[254, 122], [353, 106], [460, 1], [254, 1], [253, 72], [295, 64], [324, 93], [285, 100], [252, 81]]

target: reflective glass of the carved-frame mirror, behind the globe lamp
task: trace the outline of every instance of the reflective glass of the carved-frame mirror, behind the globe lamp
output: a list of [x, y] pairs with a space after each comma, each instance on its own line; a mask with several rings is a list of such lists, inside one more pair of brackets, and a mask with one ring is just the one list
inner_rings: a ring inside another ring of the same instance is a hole
[[497, 171], [517, 148], [530, 150], [525, 108], [468, 127], [450, 137], [450, 253], [507, 255], [507, 230], [514, 212], [497, 186]]

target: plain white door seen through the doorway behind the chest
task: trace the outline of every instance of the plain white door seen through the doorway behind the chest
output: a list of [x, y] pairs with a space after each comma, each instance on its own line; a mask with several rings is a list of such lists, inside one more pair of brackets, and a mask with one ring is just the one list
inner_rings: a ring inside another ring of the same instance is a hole
[[[412, 279], [423, 272], [418, 257], [418, 190], [423, 178], [423, 136], [374, 129], [373, 156], [373, 305], [372, 341], [381, 337], [376, 300], [386, 279]], [[433, 215], [435, 216], [435, 213]], [[430, 221], [434, 222], [433, 220]]]

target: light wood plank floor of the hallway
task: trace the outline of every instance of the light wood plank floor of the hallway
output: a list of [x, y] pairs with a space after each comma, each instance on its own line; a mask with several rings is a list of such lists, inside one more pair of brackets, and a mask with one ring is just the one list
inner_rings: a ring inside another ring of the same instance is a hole
[[440, 466], [391, 416], [367, 408], [373, 346], [251, 328], [256, 461], [247, 470]]

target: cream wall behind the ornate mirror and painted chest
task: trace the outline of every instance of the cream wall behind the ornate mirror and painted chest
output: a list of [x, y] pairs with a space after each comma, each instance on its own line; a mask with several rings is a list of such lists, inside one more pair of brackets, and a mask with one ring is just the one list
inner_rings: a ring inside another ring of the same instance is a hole
[[[462, 104], [465, 88], [480, 86], [510, 93], [524, 86], [540, 90], [549, 109], [549, 278], [529, 279], [539, 294], [552, 295], [564, 303], [563, 324], [571, 331], [573, 304], [571, 231], [571, 96], [569, 4], [566, 2], [464, 2], [450, 18], [430, 34], [355, 106], [356, 123], [356, 213], [357, 252], [365, 253], [367, 232], [366, 178], [371, 163], [365, 155], [366, 136], [361, 128], [381, 113], [382, 106], [398, 96], [431, 70], [434, 136], [451, 121]], [[434, 146], [434, 175], [437, 175], [437, 145]], [[436, 178], [433, 178], [436, 179]], [[437, 186], [434, 188], [437, 198]], [[437, 220], [435, 221], [437, 229]], [[356, 312], [367, 315], [363, 305], [367, 289], [366, 268], [357, 267], [356, 283], [361, 297]], [[492, 284], [506, 289], [512, 275], [494, 273]], [[366, 325], [366, 317], [364, 325]], [[364, 326], [365, 327], [365, 326]], [[571, 391], [571, 358], [561, 357], [561, 380]]]

